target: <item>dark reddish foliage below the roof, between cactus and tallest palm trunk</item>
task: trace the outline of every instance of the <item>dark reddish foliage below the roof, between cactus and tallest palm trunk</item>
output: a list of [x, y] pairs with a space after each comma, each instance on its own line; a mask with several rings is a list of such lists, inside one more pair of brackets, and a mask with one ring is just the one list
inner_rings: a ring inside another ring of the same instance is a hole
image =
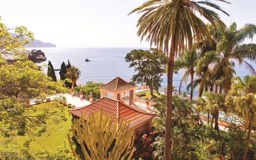
[[136, 133], [136, 139], [134, 140], [134, 146], [136, 151], [132, 158], [138, 159], [143, 158], [144, 160], [151, 160], [152, 158], [152, 143], [156, 138], [157, 133], [154, 130], [145, 129], [143, 132]]

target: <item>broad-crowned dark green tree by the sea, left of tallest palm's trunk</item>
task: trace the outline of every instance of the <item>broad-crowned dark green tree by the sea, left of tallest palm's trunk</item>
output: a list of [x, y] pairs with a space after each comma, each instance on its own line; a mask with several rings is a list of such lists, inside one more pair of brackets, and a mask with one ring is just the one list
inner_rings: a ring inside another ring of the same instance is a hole
[[153, 91], [154, 89], [158, 90], [162, 82], [161, 76], [165, 73], [166, 56], [154, 48], [150, 50], [132, 50], [126, 54], [125, 61], [129, 62], [129, 67], [134, 67], [137, 72], [132, 76], [132, 81], [148, 85], [150, 94], [154, 96]]

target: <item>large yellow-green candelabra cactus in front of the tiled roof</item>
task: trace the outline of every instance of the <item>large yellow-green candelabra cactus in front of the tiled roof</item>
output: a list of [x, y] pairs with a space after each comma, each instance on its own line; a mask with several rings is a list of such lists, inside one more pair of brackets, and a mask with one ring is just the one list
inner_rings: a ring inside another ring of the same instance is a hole
[[[100, 110], [86, 120], [84, 117], [74, 118], [72, 132], [86, 160], [130, 160], [136, 148], [133, 146], [134, 130], [129, 126], [123, 118], [119, 122]], [[79, 159], [69, 134], [68, 140], [74, 157]]]

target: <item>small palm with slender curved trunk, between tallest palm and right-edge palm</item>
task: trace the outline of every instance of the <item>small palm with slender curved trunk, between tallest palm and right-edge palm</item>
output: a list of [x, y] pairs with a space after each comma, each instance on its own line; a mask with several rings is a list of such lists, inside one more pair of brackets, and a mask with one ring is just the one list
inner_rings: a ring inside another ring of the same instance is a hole
[[[218, 139], [220, 141], [220, 148], [221, 148], [221, 154], [224, 155], [224, 143], [222, 140], [222, 137], [220, 135], [220, 129], [218, 125], [218, 117], [219, 117], [219, 111], [220, 110], [226, 110], [225, 109], [225, 94], [220, 93], [214, 93], [214, 92], [205, 92], [203, 94], [206, 98], [199, 97], [198, 102], [202, 104], [204, 107], [204, 110], [209, 110], [212, 114], [212, 118], [214, 118], [214, 129], [217, 131]], [[199, 107], [202, 107], [199, 106]]]

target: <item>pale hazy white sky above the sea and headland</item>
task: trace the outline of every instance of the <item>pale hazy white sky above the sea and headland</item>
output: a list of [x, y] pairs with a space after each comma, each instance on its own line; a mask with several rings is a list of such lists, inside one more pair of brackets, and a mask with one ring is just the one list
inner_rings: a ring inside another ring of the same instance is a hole
[[[36, 39], [57, 47], [149, 47], [136, 35], [139, 16], [127, 16], [145, 1], [1, 0], [0, 16], [8, 27], [26, 26]], [[256, 0], [230, 2], [218, 2], [230, 14], [220, 14], [227, 25], [231, 21], [239, 28], [246, 23], [256, 24]]]

